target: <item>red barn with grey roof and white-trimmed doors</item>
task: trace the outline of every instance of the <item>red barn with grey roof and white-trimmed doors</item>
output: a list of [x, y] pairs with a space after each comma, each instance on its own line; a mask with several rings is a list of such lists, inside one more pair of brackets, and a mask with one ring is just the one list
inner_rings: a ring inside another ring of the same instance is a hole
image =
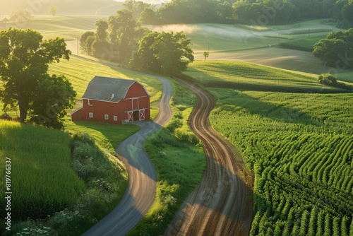
[[150, 119], [150, 95], [137, 81], [95, 76], [82, 97], [82, 107], [71, 113], [72, 121], [111, 124]]

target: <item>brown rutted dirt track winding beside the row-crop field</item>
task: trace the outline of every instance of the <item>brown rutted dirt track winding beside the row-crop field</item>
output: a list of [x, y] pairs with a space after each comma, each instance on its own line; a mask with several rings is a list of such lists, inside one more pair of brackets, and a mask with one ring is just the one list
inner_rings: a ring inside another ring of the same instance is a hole
[[164, 235], [249, 235], [253, 177], [237, 148], [210, 125], [208, 116], [215, 107], [215, 98], [191, 83], [177, 81], [198, 97], [189, 126], [203, 143], [207, 167], [201, 184], [181, 206]]

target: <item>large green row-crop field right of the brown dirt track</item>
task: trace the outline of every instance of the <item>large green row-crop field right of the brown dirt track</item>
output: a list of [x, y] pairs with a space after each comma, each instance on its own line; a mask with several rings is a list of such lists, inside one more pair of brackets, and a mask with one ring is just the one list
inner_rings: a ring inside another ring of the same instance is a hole
[[206, 88], [217, 99], [211, 124], [255, 174], [251, 235], [352, 235], [352, 93]]

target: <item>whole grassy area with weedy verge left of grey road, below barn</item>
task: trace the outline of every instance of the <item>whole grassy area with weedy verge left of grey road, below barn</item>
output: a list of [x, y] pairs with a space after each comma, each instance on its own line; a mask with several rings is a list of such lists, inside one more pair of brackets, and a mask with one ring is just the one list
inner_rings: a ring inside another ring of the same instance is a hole
[[127, 173], [112, 153], [140, 128], [78, 123], [66, 125], [71, 138], [40, 126], [0, 123], [1, 161], [11, 158], [13, 170], [11, 233], [80, 235], [124, 195]]

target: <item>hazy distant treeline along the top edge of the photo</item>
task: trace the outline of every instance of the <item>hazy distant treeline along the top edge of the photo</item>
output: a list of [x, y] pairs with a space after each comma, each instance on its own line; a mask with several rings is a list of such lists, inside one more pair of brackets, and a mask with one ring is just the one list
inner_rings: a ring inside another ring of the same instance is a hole
[[353, 1], [349, 0], [172, 0], [159, 8], [139, 1], [126, 3], [145, 24], [283, 25], [301, 19], [334, 18], [342, 28], [353, 25]]

